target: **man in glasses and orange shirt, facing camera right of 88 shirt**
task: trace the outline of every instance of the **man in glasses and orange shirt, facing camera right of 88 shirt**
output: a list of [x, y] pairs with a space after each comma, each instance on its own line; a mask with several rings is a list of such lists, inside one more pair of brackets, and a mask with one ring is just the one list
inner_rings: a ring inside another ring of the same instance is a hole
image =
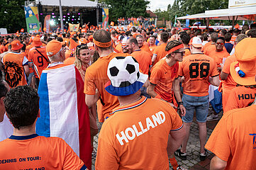
[[216, 49], [208, 52], [208, 56], [212, 57], [217, 64], [219, 72], [221, 72], [221, 64], [223, 63], [223, 58], [228, 57], [229, 53], [224, 49], [225, 39], [219, 37], [215, 43]]

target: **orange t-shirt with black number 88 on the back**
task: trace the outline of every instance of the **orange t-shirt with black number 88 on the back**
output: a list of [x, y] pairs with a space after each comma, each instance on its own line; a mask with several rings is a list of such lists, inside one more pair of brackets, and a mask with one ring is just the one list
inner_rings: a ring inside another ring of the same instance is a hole
[[179, 76], [185, 77], [184, 94], [189, 96], [207, 96], [209, 77], [218, 76], [216, 63], [204, 54], [192, 54], [179, 64]]

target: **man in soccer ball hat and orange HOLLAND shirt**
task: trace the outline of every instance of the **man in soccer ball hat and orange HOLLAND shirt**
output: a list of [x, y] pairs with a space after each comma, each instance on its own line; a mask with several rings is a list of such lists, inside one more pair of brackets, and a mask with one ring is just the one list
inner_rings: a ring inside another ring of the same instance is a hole
[[111, 81], [105, 89], [118, 96], [120, 106], [101, 128], [95, 168], [169, 169], [168, 135], [172, 136], [170, 153], [184, 137], [179, 115], [165, 101], [140, 96], [148, 75], [139, 72], [133, 57], [113, 58], [108, 77]]

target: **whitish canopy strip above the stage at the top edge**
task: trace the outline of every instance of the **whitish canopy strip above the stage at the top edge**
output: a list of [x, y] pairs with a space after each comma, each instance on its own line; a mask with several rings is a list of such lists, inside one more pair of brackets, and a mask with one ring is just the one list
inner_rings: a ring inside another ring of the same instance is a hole
[[[43, 6], [59, 6], [58, 0], [36, 0], [37, 4], [41, 3]], [[79, 6], [79, 7], [96, 7], [97, 2], [87, 0], [61, 0], [62, 6]]]

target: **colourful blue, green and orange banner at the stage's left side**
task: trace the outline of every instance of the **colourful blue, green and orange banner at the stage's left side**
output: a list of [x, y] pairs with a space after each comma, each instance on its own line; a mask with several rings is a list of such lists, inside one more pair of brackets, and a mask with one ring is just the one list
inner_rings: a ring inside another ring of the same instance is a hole
[[40, 25], [37, 6], [24, 6], [28, 33], [38, 32]]

